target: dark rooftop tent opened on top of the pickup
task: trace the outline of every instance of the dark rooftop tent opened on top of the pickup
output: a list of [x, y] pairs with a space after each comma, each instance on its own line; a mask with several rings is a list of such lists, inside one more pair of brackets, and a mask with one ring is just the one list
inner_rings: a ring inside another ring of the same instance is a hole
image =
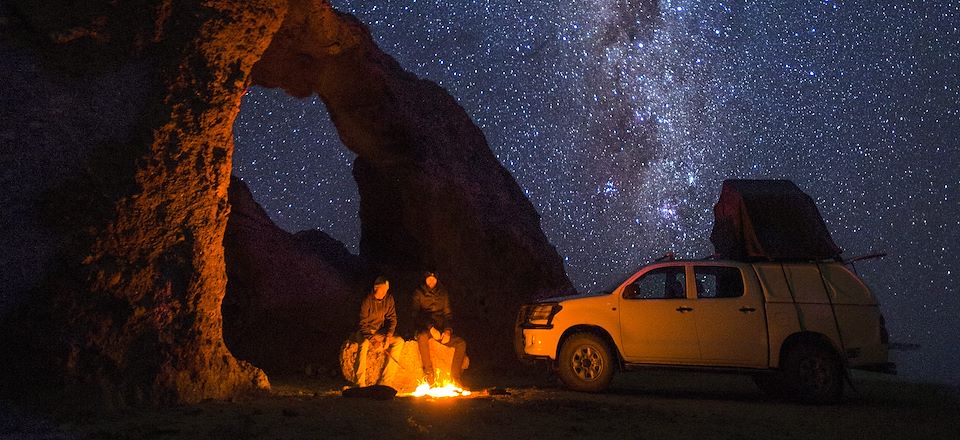
[[827, 260], [843, 252], [813, 199], [789, 180], [723, 181], [710, 241], [722, 258]]

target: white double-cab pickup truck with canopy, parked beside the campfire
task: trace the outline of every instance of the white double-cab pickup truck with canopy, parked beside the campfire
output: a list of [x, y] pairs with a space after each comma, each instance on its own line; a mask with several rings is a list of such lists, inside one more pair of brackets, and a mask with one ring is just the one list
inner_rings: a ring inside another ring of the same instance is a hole
[[654, 366], [752, 374], [762, 390], [839, 401], [847, 368], [892, 372], [870, 289], [843, 263], [671, 260], [595, 294], [521, 307], [515, 346], [578, 391]]

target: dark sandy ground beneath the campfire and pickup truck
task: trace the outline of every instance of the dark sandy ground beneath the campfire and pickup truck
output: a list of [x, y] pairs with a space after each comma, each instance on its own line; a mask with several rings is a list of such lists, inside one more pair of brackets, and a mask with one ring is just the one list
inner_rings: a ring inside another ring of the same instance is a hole
[[603, 394], [544, 376], [466, 380], [480, 392], [379, 401], [342, 397], [338, 379], [274, 378], [269, 394], [233, 402], [60, 422], [0, 404], [0, 439], [960, 438], [955, 389], [872, 374], [858, 374], [856, 392], [834, 406], [771, 400], [731, 375], [624, 374]]

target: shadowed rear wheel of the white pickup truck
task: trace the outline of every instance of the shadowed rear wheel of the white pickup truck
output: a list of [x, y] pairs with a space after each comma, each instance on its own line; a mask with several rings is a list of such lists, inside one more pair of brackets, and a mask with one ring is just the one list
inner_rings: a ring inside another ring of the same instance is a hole
[[789, 396], [804, 403], [827, 404], [843, 397], [843, 367], [836, 354], [820, 345], [801, 344], [783, 365]]

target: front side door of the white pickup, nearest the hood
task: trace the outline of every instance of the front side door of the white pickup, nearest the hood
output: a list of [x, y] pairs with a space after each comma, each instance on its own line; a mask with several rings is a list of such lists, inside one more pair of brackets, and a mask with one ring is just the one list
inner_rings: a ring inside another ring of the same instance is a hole
[[624, 286], [620, 338], [628, 362], [690, 363], [700, 358], [683, 264], [654, 267]]

